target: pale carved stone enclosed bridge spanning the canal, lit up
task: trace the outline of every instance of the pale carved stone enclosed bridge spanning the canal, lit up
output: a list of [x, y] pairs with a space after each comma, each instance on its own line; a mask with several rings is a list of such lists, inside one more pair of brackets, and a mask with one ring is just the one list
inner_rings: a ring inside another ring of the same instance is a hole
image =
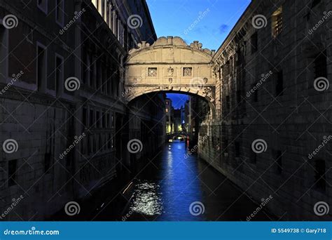
[[125, 67], [125, 102], [147, 93], [198, 95], [209, 102], [215, 116], [216, 78], [211, 65], [214, 51], [178, 36], [160, 37], [129, 52]]

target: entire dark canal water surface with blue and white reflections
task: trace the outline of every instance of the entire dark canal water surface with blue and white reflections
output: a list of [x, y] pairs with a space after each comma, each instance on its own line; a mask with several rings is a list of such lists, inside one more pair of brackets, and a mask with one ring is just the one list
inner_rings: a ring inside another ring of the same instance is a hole
[[[185, 142], [167, 143], [157, 155], [139, 160], [132, 176], [120, 176], [80, 203], [79, 215], [61, 214], [61, 220], [246, 221], [258, 205], [186, 149]], [[271, 219], [262, 209], [251, 220]]]

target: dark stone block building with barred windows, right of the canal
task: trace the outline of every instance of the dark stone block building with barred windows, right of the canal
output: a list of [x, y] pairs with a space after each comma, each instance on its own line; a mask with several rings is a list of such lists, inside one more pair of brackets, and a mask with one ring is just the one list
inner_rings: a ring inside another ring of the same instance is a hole
[[332, 203], [331, 9], [252, 1], [212, 60], [217, 117], [200, 156], [255, 201], [272, 195], [276, 219], [331, 220], [314, 213]]

